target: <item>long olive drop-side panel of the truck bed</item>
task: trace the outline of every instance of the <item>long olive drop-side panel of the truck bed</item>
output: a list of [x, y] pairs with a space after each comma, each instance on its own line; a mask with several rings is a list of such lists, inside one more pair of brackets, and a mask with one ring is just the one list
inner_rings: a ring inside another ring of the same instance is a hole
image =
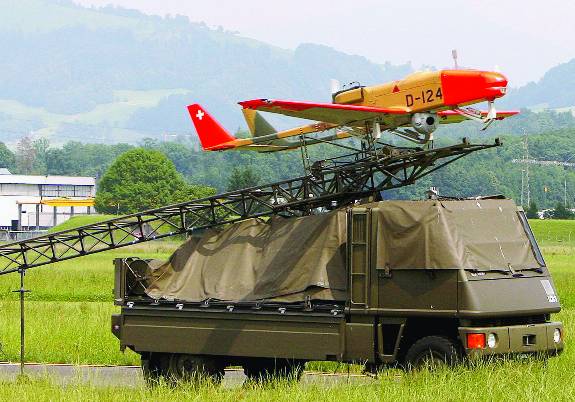
[[136, 351], [332, 361], [344, 353], [343, 315], [134, 307], [122, 316], [122, 346]]

